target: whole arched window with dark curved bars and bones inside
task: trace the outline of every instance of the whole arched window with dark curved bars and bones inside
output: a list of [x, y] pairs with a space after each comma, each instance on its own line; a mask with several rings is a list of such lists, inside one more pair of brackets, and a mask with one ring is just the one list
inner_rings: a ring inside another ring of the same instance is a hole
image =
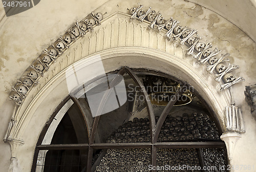
[[191, 85], [123, 67], [62, 101], [41, 132], [32, 171], [225, 171], [221, 133]]

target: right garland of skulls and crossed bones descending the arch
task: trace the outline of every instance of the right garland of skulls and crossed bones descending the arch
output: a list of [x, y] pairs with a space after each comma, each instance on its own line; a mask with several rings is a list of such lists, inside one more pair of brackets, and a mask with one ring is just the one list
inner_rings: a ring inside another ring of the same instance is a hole
[[217, 48], [210, 50], [211, 43], [206, 41], [205, 43], [200, 41], [201, 37], [197, 34], [197, 30], [190, 29], [179, 25], [179, 21], [173, 19], [165, 19], [162, 14], [149, 8], [147, 11], [142, 9], [143, 5], [138, 7], [132, 7], [128, 9], [131, 13], [131, 20], [138, 19], [140, 22], [147, 20], [150, 22], [148, 28], [157, 29], [158, 31], [165, 30], [168, 40], [176, 41], [180, 40], [181, 45], [187, 45], [189, 48], [186, 50], [186, 55], [192, 55], [196, 58], [200, 65], [208, 64], [206, 70], [212, 74], [216, 71], [215, 80], [220, 82], [224, 81], [221, 85], [221, 91], [231, 87], [233, 84], [244, 81], [243, 77], [236, 78], [232, 73], [233, 70], [239, 68], [239, 66], [226, 65], [229, 59], [228, 53], [222, 54], [220, 57], [217, 55], [221, 52]]

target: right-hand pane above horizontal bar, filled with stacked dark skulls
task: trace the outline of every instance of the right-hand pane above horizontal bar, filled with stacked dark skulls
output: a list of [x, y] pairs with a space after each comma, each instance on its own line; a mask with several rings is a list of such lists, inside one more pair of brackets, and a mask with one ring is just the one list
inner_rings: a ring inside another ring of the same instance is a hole
[[191, 107], [174, 107], [166, 117], [158, 142], [220, 140], [215, 122]]

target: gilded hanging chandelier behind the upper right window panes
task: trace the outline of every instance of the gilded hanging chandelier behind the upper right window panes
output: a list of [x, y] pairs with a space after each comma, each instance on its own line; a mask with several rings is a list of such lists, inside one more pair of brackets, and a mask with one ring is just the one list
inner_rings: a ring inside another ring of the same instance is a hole
[[[152, 104], [165, 106], [179, 90], [181, 85], [172, 79], [157, 75], [146, 75], [143, 79], [144, 87]], [[193, 93], [186, 90], [174, 106], [188, 104], [195, 97]]]

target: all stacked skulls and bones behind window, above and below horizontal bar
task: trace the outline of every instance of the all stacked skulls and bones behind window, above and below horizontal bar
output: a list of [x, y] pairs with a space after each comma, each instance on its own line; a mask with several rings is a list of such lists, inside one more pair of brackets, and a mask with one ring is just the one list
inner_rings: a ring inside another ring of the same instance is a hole
[[[155, 120], [158, 121], [156, 116]], [[161, 128], [158, 142], [219, 140], [220, 136], [208, 115], [202, 113], [184, 113], [182, 116], [167, 116]], [[134, 118], [127, 121], [113, 132], [107, 139], [108, 143], [150, 142], [150, 121], [148, 118]], [[217, 166], [216, 171], [222, 171], [219, 166], [225, 164], [224, 150], [219, 148], [202, 149], [204, 163], [207, 166]], [[95, 171], [148, 171], [151, 164], [151, 149], [107, 149]], [[200, 166], [197, 149], [157, 149], [157, 165], [188, 165]], [[169, 170], [166, 170], [169, 171]], [[179, 171], [179, 170], [177, 170]], [[190, 171], [190, 170], [187, 170]], [[197, 170], [191, 170], [197, 171]]]

